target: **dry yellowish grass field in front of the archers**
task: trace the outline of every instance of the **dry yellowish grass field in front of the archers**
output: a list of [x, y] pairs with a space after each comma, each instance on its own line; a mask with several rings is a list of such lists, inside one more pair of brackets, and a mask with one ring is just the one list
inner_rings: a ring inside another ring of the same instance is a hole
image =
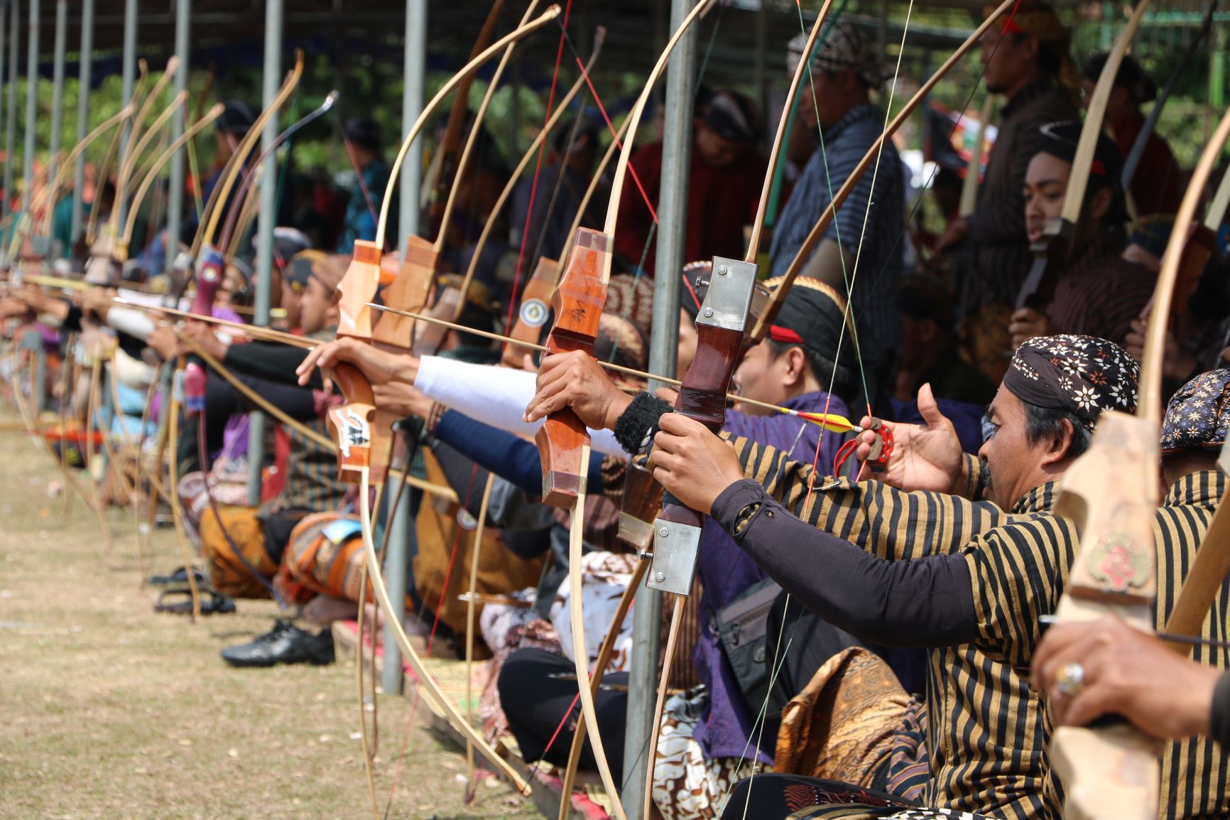
[[[266, 632], [272, 603], [197, 624], [154, 613], [132, 513], [111, 511], [108, 554], [81, 499], [65, 511], [49, 494], [44, 451], [0, 432], [0, 818], [373, 816], [352, 661], [228, 667], [218, 651]], [[146, 564], [176, 555], [160, 529]], [[465, 805], [464, 754], [426, 714], [407, 739], [408, 701], [379, 707], [381, 814], [392, 792], [390, 818], [536, 816], [494, 779]]]

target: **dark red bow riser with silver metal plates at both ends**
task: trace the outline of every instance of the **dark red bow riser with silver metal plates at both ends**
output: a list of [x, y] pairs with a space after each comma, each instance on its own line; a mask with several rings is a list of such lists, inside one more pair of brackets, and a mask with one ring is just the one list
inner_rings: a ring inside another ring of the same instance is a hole
[[[696, 316], [696, 358], [679, 387], [675, 412], [715, 433], [726, 424], [726, 392], [739, 364], [755, 283], [753, 262], [713, 259], [713, 275]], [[700, 512], [683, 506], [669, 492], [663, 496], [662, 512], [653, 522], [653, 565], [647, 586], [691, 593], [704, 523]]]

